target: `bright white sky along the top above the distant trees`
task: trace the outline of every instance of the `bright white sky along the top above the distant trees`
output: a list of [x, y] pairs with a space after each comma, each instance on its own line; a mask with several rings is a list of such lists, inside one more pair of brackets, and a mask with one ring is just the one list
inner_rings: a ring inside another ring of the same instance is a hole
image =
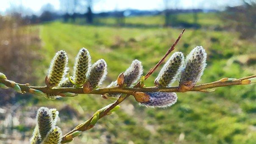
[[[92, 10], [96, 13], [102, 11], [139, 9], [139, 10], [163, 10], [164, 0], [95, 0]], [[242, 0], [167, 0], [169, 8], [205, 8], [222, 10], [225, 6], [238, 6]], [[20, 6], [30, 11], [39, 12], [41, 7], [47, 3], [60, 10], [59, 0], [0, 0], [0, 11], [3, 13], [10, 6]]]

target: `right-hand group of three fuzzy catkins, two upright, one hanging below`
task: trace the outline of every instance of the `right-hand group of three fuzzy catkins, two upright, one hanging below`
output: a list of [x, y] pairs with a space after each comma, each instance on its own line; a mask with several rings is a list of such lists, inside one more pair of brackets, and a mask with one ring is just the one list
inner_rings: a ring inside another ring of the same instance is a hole
[[[206, 52], [203, 47], [195, 47], [189, 55], [184, 56], [181, 52], [174, 53], [164, 64], [155, 80], [155, 86], [162, 88], [170, 86], [179, 79], [179, 89], [186, 91], [192, 89], [203, 75], [206, 67]], [[139, 94], [139, 96], [138, 96]], [[164, 108], [173, 105], [178, 97], [174, 92], [145, 92], [136, 93], [135, 99], [140, 105], [152, 108]], [[142, 102], [146, 100], [145, 102]]]

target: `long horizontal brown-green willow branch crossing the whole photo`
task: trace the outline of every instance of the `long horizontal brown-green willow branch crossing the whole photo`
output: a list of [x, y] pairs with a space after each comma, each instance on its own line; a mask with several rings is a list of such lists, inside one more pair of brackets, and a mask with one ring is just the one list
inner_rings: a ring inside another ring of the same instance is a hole
[[[227, 80], [227, 81], [222, 81], [217, 80], [211, 83], [203, 83], [199, 85], [195, 85], [192, 89], [189, 89], [188, 91], [203, 91], [203, 89], [209, 89], [209, 88], [217, 88], [217, 87], [223, 87], [223, 86], [233, 86], [233, 85], [242, 85], [242, 84], [249, 84], [249, 83], [242, 83], [243, 80], [248, 80], [250, 78], [256, 78], [256, 75], [251, 75], [248, 77], [244, 78], [239, 78], [235, 80]], [[21, 90], [24, 92], [29, 92], [29, 89], [36, 89], [39, 91], [42, 91], [43, 93], [46, 94], [59, 94], [59, 93], [64, 93], [64, 92], [71, 92], [75, 94], [106, 94], [106, 93], [122, 93], [122, 94], [134, 94], [136, 91], [141, 91], [141, 92], [156, 92], [156, 91], [162, 91], [162, 92], [184, 92], [180, 91], [177, 87], [164, 87], [164, 88], [158, 88], [156, 86], [152, 87], [143, 87], [143, 88], [122, 88], [120, 86], [115, 86], [115, 87], [110, 87], [110, 88], [99, 88], [95, 89], [89, 93], [84, 93], [83, 88], [53, 88], [49, 89], [47, 86], [29, 86], [28, 84], [20, 84], [20, 83], [15, 83], [14, 81], [7, 80], [7, 79], [1, 79], [0, 78], [0, 83], [5, 84], [8, 87], [13, 87], [14, 84], [17, 84]], [[204, 91], [203, 91], [204, 92]]]

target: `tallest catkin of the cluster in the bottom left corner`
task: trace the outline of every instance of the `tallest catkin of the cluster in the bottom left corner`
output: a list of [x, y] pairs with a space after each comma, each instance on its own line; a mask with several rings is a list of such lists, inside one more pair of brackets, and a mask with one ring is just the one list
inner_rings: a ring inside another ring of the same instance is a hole
[[39, 133], [42, 139], [44, 139], [50, 129], [53, 127], [53, 117], [48, 108], [41, 107], [37, 111], [37, 123]]

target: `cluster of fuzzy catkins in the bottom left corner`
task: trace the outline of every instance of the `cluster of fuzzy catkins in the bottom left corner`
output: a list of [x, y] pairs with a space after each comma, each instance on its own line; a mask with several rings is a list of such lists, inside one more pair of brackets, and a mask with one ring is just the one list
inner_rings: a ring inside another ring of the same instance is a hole
[[61, 142], [61, 129], [56, 126], [58, 111], [55, 108], [41, 107], [36, 114], [37, 125], [30, 139], [31, 144], [59, 144]]

